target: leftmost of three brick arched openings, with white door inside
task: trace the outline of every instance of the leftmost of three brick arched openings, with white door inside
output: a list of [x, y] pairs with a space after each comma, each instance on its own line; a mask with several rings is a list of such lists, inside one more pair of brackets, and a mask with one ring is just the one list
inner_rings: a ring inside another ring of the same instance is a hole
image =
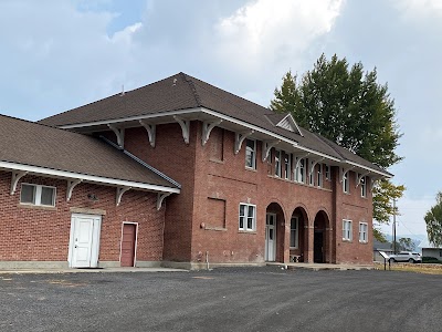
[[265, 261], [284, 260], [284, 211], [277, 203], [267, 206], [265, 215]]

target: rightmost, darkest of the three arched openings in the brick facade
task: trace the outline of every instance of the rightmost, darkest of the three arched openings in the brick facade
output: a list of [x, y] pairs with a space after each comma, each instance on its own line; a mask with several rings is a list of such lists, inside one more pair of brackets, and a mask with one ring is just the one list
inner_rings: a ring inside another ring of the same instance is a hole
[[328, 216], [320, 210], [316, 214], [313, 238], [313, 261], [324, 263], [328, 258]]

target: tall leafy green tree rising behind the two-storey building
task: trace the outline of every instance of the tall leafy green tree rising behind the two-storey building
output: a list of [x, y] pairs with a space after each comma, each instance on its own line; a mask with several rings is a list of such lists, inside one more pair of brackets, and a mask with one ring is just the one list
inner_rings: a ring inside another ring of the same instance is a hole
[[[377, 83], [377, 71], [364, 72], [360, 62], [349, 68], [347, 60], [322, 54], [314, 69], [298, 81], [291, 72], [275, 89], [271, 108], [291, 112], [296, 122], [336, 142], [360, 157], [382, 167], [400, 162], [396, 154], [401, 134], [396, 123], [394, 102], [387, 84]], [[373, 218], [389, 222], [392, 198], [399, 198], [403, 186], [388, 180], [373, 191]], [[375, 232], [379, 234], [379, 232]]]

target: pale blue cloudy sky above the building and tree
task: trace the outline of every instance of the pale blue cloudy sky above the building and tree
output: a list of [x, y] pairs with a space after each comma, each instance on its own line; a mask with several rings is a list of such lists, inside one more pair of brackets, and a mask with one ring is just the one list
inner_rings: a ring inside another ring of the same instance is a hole
[[403, 133], [398, 234], [442, 190], [441, 0], [1, 0], [0, 45], [0, 113], [31, 121], [181, 71], [269, 106], [323, 52], [360, 61]]

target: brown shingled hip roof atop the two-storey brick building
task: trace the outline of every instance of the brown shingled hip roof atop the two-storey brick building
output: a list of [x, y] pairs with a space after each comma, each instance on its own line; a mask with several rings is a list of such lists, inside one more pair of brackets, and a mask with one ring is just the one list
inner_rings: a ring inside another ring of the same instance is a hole
[[276, 126], [284, 115], [223, 91], [185, 73], [178, 73], [149, 85], [115, 94], [104, 100], [61, 113], [40, 121], [50, 126], [71, 127], [83, 124], [124, 121], [137, 116], [151, 116], [173, 111], [202, 107], [230, 118], [263, 128], [281, 137], [294, 141], [299, 147], [329, 156], [334, 159], [349, 160], [375, 172], [390, 176], [388, 172], [360, 158], [354, 153], [304, 128], [291, 132]]

